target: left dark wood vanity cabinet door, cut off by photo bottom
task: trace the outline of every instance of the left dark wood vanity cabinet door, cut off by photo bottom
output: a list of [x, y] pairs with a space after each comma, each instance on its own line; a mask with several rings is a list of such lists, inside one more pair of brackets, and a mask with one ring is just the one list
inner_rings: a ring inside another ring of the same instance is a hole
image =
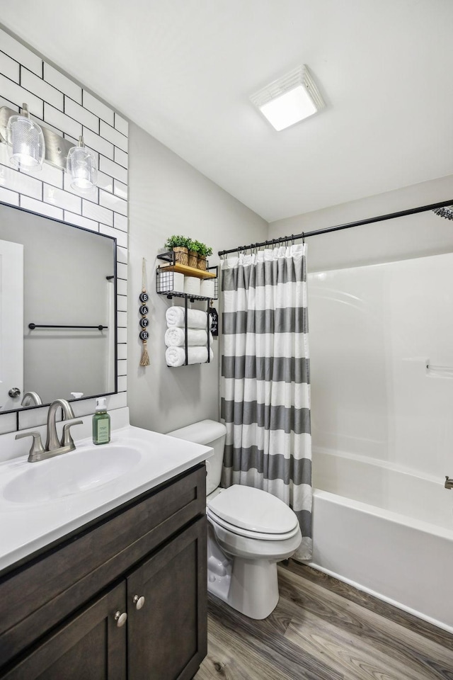
[[24, 657], [3, 680], [126, 680], [126, 584], [108, 591]]

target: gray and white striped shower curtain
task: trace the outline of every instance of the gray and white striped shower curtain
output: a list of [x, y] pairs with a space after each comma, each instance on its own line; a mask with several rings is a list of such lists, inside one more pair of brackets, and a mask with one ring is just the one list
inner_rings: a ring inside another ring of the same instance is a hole
[[311, 433], [306, 244], [222, 266], [222, 483], [258, 487], [297, 514], [311, 557]]

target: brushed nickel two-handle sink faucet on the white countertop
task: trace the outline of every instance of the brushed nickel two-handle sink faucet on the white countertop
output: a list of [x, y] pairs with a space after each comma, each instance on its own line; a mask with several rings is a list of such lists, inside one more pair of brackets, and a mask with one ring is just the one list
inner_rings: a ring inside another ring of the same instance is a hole
[[28, 463], [36, 463], [38, 460], [45, 460], [46, 458], [52, 458], [54, 455], [74, 451], [76, 448], [69, 430], [73, 425], [79, 425], [83, 423], [83, 421], [74, 420], [71, 423], [64, 424], [62, 438], [59, 439], [57, 435], [57, 411], [59, 408], [63, 410], [64, 420], [75, 418], [71, 404], [69, 404], [66, 399], [55, 399], [55, 401], [50, 404], [49, 411], [47, 412], [47, 438], [45, 448], [42, 446], [39, 432], [21, 432], [16, 434], [16, 439], [33, 437], [33, 444], [28, 455]]

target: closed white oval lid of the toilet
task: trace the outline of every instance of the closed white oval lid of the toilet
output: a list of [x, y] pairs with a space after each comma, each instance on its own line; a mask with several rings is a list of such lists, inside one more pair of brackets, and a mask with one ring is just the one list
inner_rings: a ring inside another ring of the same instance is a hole
[[247, 531], [286, 534], [297, 528], [297, 516], [279, 498], [261, 489], [234, 485], [212, 499], [208, 508], [213, 519]]

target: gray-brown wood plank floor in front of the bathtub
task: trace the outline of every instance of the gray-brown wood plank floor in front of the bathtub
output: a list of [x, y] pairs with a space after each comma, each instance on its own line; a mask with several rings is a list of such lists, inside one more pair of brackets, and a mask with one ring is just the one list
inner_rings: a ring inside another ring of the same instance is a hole
[[194, 680], [453, 680], [453, 635], [292, 560], [278, 571], [265, 621], [210, 596]]

